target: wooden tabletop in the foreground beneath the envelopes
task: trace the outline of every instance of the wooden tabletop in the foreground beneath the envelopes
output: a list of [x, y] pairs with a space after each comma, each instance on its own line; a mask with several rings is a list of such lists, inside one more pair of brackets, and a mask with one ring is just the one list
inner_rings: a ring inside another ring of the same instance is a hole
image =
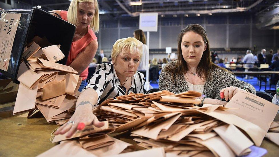
[[[12, 110], [0, 110], [0, 156], [37, 156], [55, 146], [49, 141], [51, 132], [58, 127], [55, 123], [49, 124], [45, 118], [27, 119], [27, 114], [13, 116], [12, 113]], [[279, 121], [279, 115], [275, 120]], [[136, 145], [129, 133], [114, 137]], [[268, 139], [263, 140], [261, 147], [268, 150], [266, 156], [279, 154], [279, 146]], [[143, 148], [137, 146], [136, 149]]]

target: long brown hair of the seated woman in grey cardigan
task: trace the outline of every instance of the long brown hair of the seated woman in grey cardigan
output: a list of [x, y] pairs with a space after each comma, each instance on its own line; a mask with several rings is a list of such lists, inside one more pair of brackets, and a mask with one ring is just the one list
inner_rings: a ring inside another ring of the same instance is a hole
[[[209, 41], [208, 41], [204, 27], [202, 27], [201, 25], [198, 25], [198, 24], [189, 24], [184, 29], [182, 29], [181, 33], [178, 35], [177, 62], [176, 62], [175, 67], [173, 69], [169, 69], [169, 70], [173, 71], [174, 74], [177, 73], [178, 75], [185, 74], [189, 70], [187, 67], [187, 63], [182, 56], [182, 49], [181, 49], [182, 37], [186, 32], [189, 32], [189, 31], [193, 31], [194, 33], [197, 33], [200, 36], [202, 36], [204, 43], [206, 45], [206, 50], [202, 54], [202, 58], [197, 67], [198, 75], [201, 78], [207, 79], [208, 74], [209, 74], [208, 71], [210, 69], [214, 69], [214, 68], [224, 69], [224, 68], [220, 68], [219, 66], [214, 64], [211, 60]], [[224, 70], [226, 70], [226, 69], [224, 69]]]

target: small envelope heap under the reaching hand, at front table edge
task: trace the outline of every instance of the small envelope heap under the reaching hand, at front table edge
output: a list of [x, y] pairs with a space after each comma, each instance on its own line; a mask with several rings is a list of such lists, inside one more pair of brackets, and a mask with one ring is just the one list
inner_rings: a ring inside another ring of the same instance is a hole
[[[52, 142], [61, 141], [60, 144], [39, 156], [59, 156], [58, 154], [107, 156], [134, 150], [133, 145], [107, 135], [114, 130], [114, 128], [109, 128], [108, 121], [105, 121], [101, 128], [86, 126], [83, 130], [77, 130], [70, 138], [66, 138], [66, 134], [56, 135]], [[75, 151], [69, 151], [69, 148]]]

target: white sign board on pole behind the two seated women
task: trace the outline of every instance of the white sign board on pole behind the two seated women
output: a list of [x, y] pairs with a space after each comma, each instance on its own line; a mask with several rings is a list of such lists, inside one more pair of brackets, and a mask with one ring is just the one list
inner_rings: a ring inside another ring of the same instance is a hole
[[140, 13], [139, 14], [139, 29], [144, 32], [158, 31], [158, 13]]

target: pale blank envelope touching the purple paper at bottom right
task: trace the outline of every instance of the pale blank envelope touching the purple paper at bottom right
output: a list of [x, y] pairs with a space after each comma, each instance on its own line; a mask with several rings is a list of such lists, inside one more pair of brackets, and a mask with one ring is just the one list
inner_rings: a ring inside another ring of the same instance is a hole
[[228, 144], [237, 156], [242, 156], [244, 151], [254, 143], [250, 141], [234, 125], [223, 125], [213, 129]]

